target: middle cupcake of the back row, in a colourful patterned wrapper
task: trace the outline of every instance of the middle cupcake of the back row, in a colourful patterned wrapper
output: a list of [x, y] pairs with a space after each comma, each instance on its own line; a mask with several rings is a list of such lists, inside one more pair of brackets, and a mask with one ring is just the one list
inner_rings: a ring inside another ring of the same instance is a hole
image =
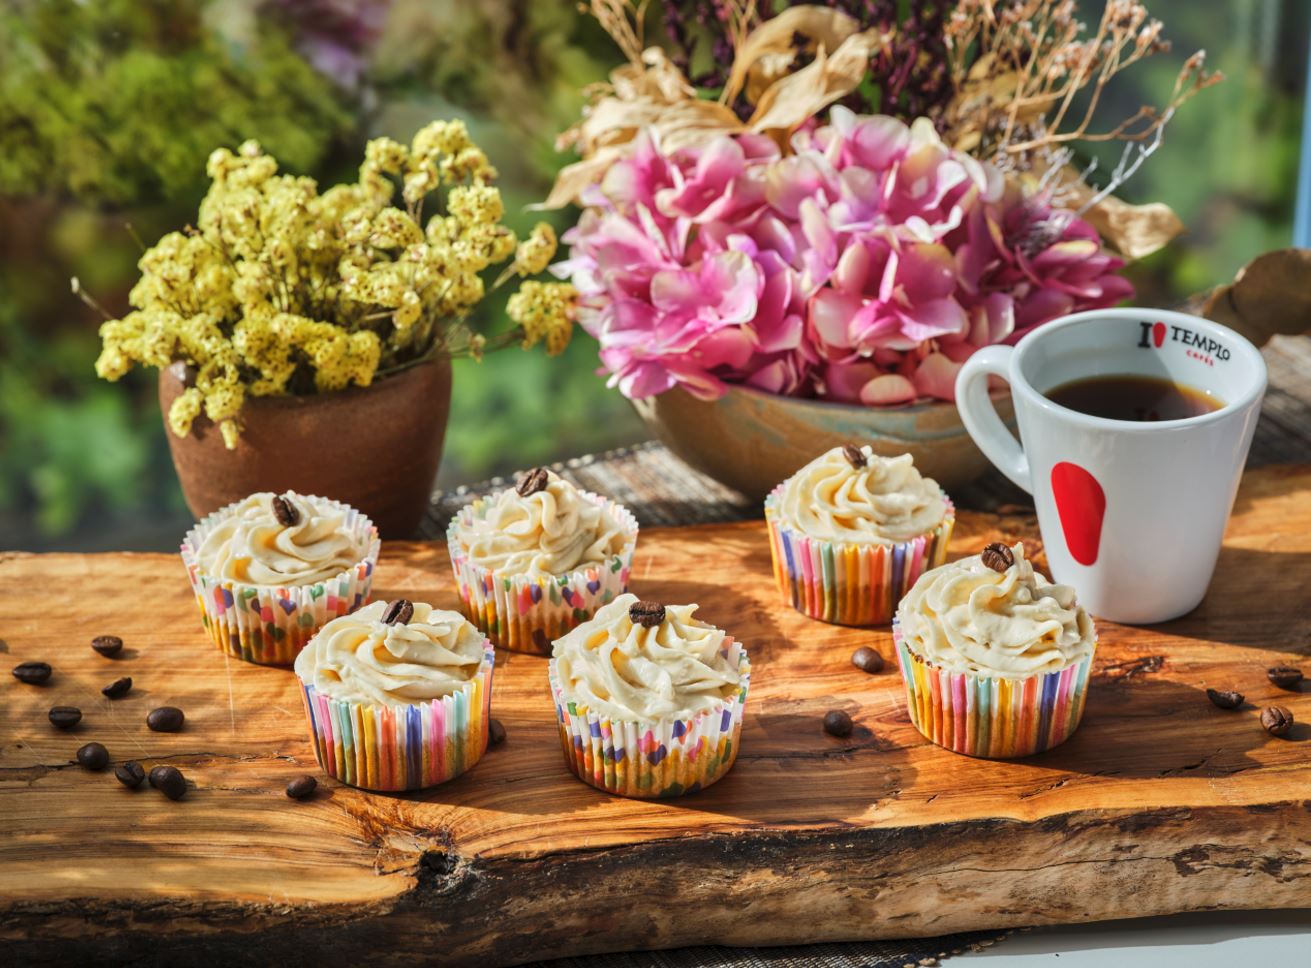
[[461, 510], [446, 539], [469, 620], [497, 645], [544, 656], [628, 590], [637, 521], [538, 467]]

